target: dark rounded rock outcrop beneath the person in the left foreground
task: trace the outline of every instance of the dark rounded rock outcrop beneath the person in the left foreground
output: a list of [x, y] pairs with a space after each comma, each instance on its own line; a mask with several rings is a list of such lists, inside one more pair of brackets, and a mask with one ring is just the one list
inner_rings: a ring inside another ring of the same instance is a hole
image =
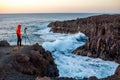
[[37, 76], [59, 76], [51, 53], [42, 46], [23, 46], [16, 51], [13, 48], [16, 47], [0, 47], [0, 54], [4, 54], [0, 56], [0, 80], [35, 80]]

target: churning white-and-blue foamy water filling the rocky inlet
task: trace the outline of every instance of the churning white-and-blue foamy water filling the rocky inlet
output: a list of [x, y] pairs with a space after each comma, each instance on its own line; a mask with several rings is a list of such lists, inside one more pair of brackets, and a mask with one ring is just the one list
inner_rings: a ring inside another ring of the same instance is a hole
[[98, 78], [107, 77], [114, 74], [115, 62], [103, 61], [74, 55], [71, 52], [78, 46], [83, 45], [86, 36], [82, 33], [65, 36], [56, 39], [54, 42], [45, 42], [42, 46], [50, 51], [59, 69], [60, 77], [84, 77], [97, 76]]

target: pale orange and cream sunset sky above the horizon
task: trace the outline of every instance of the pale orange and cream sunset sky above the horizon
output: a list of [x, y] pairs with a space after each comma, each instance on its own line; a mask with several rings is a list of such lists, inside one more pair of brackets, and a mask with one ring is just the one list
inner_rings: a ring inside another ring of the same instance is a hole
[[120, 13], [120, 0], [0, 0], [0, 13]]

